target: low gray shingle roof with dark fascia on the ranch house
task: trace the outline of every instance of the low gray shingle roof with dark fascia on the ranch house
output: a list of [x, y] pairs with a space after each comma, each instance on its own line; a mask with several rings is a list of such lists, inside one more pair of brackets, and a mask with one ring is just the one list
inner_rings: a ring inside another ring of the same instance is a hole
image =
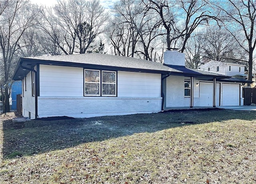
[[22, 76], [25, 76], [27, 70], [22, 70], [22, 66], [32, 68], [36, 64], [46, 65], [63, 65], [63, 66], [75, 66], [75, 67], [98, 67], [104, 69], [104, 67], [114, 67], [117, 70], [125, 71], [141, 71], [152, 73], [165, 73], [171, 75], [181, 76], [204, 76], [204, 77], [217, 77], [227, 78], [227, 76], [214, 74], [211, 72], [205, 72], [202, 70], [187, 69], [183, 66], [164, 65], [154, 61], [146, 61], [143, 59], [137, 59], [133, 57], [124, 57], [116, 55], [107, 55], [100, 53], [86, 53], [76, 55], [57, 55], [57, 56], [40, 56], [40, 57], [27, 57], [20, 58], [16, 70], [14, 72], [13, 79], [20, 80]]

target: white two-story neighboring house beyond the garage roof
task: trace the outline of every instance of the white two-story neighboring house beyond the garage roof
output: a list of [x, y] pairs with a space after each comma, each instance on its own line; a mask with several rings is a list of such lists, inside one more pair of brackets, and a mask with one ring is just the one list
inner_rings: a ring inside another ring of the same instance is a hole
[[227, 75], [227, 76], [244, 76], [245, 65], [238, 65], [233, 63], [223, 63], [220, 61], [209, 61], [208, 63], [201, 65], [200, 70], [213, 72], [217, 74]]

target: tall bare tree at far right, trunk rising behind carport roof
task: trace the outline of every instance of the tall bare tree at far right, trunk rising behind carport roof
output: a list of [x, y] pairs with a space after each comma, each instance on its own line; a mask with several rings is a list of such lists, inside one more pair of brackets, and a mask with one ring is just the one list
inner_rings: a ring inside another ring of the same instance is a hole
[[[256, 18], [256, 4], [255, 0], [226, 0], [224, 2], [210, 1], [209, 3], [217, 11], [220, 11], [220, 18], [226, 29], [233, 35], [234, 40], [240, 45], [242, 49], [248, 54], [248, 80], [252, 80], [252, 64], [253, 52], [256, 45], [255, 37], [255, 18]], [[243, 35], [241, 41], [238, 34]]]

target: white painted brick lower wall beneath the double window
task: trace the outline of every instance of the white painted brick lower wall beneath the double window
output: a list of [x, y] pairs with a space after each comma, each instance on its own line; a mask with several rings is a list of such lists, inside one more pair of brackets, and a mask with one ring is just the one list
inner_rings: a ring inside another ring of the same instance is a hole
[[38, 117], [96, 117], [160, 112], [162, 98], [38, 97]]

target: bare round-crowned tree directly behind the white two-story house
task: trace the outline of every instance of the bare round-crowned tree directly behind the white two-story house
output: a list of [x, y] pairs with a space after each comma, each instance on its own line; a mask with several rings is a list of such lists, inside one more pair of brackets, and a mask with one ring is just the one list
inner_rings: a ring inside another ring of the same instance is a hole
[[[238, 38], [238, 37], [237, 37]], [[245, 64], [244, 52], [233, 36], [218, 25], [206, 27], [190, 37], [186, 45], [186, 65], [197, 68], [210, 60]]]

